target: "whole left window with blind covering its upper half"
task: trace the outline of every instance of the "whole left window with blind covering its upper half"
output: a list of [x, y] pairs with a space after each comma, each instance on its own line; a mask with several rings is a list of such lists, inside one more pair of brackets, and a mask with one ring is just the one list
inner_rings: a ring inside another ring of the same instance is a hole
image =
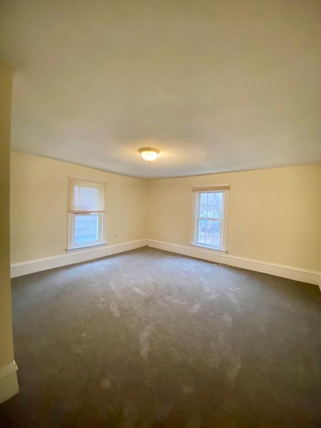
[[69, 177], [68, 249], [106, 243], [106, 184]]

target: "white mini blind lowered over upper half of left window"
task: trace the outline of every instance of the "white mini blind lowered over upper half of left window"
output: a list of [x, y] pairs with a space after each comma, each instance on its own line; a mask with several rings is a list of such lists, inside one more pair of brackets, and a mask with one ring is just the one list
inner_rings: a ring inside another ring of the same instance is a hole
[[69, 212], [104, 213], [106, 184], [69, 177]]

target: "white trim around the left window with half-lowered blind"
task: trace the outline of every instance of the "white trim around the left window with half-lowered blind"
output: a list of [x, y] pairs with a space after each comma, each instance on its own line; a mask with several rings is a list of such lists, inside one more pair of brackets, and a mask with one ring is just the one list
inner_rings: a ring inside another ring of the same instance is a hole
[[[82, 181], [87, 181], [88, 183], [92, 182], [92, 183], [102, 183], [107, 185], [107, 183], [104, 182], [99, 182], [96, 180], [90, 180], [90, 179], [85, 179], [85, 178], [80, 178], [80, 177], [74, 177], [74, 176], [68, 176], [68, 192], [69, 192], [69, 179], [73, 178], [73, 179], [79, 179]], [[104, 197], [106, 198], [106, 195], [104, 195]], [[106, 203], [106, 201], [105, 201]], [[69, 204], [69, 195], [68, 195], [68, 204]], [[107, 247], [107, 212], [105, 213], [99, 213], [99, 215], [101, 215], [102, 220], [100, 223], [100, 228], [101, 230], [99, 230], [99, 236], [101, 238], [100, 241], [98, 242], [93, 242], [93, 243], [84, 243], [84, 244], [79, 244], [79, 245], [74, 245], [74, 221], [75, 221], [75, 215], [90, 215], [90, 213], [86, 214], [86, 213], [71, 213], [69, 212], [69, 206], [67, 207], [67, 212], [68, 212], [68, 222], [67, 222], [67, 248], [66, 248], [66, 252], [74, 252], [74, 251], [79, 251], [79, 252], [83, 252], [83, 250], [88, 250], [90, 248], [97, 247], [97, 246], [105, 246]]]

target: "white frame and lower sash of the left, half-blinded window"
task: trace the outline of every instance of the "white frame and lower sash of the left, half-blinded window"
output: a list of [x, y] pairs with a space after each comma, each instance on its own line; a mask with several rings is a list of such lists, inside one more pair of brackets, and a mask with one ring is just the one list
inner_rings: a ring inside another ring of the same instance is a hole
[[[80, 177], [72, 177], [68, 176], [68, 205], [70, 201], [70, 180], [75, 181], [81, 181], [87, 184], [87, 186], [90, 188], [90, 183], [93, 185], [103, 185], [103, 199], [104, 199], [104, 205], [106, 205], [106, 185], [107, 183], [103, 183], [100, 181], [95, 180], [89, 180], [85, 178]], [[94, 186], [93, 186], [94, 188]], [[73, 190], [74, 192], [74, 190]], [[74, 250], [81, 250], [91, 247], [96, 247], [100, 245], [107, 245], [107, 211], [105, 212], [97, 212], [97, 211], [90, 211], [90, 212], [70, 212], [70, 207], [68, 206], [68, 222], [67, 222], [67, 252], [74, 251]], [[97, 215], [98, 216], [98, 240], [91, 241], [91, 242], [84, 242], [84, 243], [75, 243], [75, 229], [76, 229], [76, 217], [83, 217], [83, 216], [90, 216], [90, 215]]]

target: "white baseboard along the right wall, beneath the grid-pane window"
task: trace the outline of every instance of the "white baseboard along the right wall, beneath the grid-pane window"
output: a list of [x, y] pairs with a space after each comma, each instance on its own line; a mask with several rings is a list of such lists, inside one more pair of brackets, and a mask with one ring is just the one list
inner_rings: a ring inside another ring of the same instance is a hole
[[269, 263], [244, 257], [237, 257], [229, 254], [214, 254], [210, 250], [196, 248], [169, 242], [147, 239], [147, 245], [153, 248], [175, 252], [190, 257], [201, 258], [203, 260], [214, 261], [215, 263], [227, 264], [229, 266], [241, 267], [242, 269], [255, 270], [256, 272], [268, 273], [270, 275], [281, 276], [295, 281], [307, 282], [320, 287], [321, 272], [315, 270], [301, 269], [293, 266]]

